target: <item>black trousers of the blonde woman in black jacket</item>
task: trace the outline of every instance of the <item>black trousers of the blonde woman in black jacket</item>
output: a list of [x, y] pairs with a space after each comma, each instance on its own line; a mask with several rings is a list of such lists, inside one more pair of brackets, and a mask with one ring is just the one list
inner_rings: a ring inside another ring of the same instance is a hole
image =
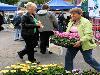
[[28, 60], [29, 61], [35, 61], [36, 59], [34, 58], [34, 48], [38, 44], [37, 40], [37, 34], [34, 35], [22, 35], [26, 46], [24, 50], [21, 51], [21, 54], [24, 56], [25, 54], [28, 55]]

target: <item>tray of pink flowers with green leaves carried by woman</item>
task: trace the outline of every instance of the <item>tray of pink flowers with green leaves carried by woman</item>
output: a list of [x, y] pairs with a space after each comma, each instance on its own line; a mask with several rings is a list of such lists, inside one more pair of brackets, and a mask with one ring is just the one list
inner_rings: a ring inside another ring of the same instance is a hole
[[79, 34], [77, 32], [58, 32], [54, 31], [54, 35], [51, 36], [50, 42], [55, 45], [70, 47], [75, 44], [79, 40]]

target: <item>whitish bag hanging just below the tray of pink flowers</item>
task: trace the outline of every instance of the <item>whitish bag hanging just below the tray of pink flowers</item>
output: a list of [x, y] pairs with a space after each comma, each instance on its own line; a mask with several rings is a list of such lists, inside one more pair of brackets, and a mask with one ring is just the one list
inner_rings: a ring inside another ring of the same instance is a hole
[[49, 44], [48, 51], [50, 51], [50, 52], [52, 52], [54, 54], [57, 54], [57, 55], [62, 55], [63, 54], [62, 46], [58, 46], [58, 45], [55, 45], [53, 43]]

